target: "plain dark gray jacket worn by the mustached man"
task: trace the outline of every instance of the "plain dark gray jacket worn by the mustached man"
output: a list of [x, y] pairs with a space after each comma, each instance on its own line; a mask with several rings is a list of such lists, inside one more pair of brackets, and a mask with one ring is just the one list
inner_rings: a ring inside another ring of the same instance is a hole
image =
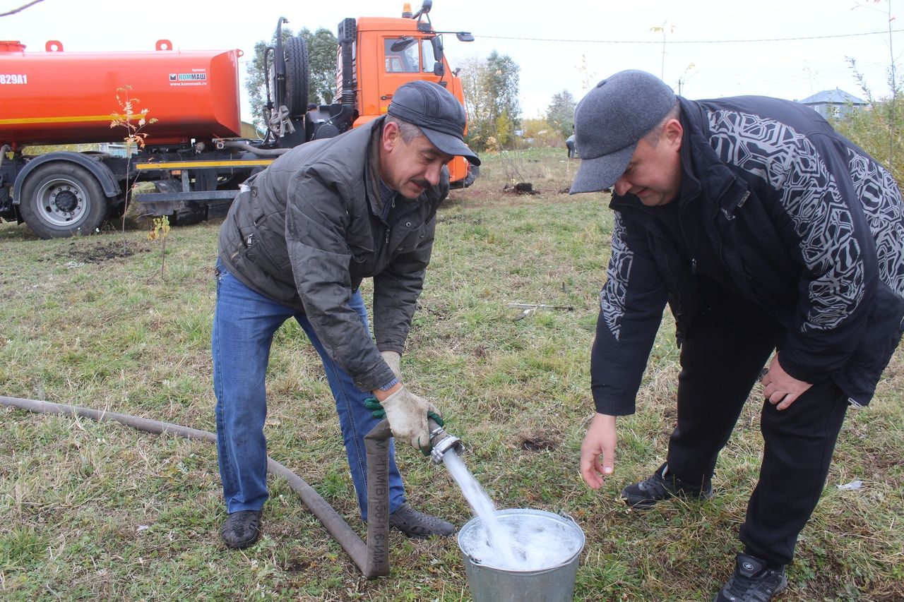
[[[220, 259], [261, 295], [305, 313], [327, 353], [362, 390], [392, 380], [380, 351], [401, 353], [424, 282], [448, 173], [381, 219], [377, 156], [384, 119], [297, 146], [250, 178], [220, 229]], [[247, 188], [247, 189], [246, 189]], [[373, 333], [349, 306], [373, 277]]]

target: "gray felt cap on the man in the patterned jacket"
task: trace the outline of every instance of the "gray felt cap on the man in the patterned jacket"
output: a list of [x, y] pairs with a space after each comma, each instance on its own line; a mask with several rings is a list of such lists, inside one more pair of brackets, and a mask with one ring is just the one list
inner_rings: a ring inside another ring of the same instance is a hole
[[574, 109], [580, 165], [569, 192], [611, 188], [637, 143], [669, 114], [675, 99], [663, 80], [645, 71], [618, 71], [600, 81]]

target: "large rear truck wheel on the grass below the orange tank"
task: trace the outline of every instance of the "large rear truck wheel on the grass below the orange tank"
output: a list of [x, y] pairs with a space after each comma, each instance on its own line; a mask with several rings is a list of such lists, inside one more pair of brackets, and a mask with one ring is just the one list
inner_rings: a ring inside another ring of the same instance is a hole
[[91, 234], [107, 217], [107, 197], [94, 176], [79, 165], [42, 165], [28, 176], [22, 188], [19, 211], [42, 239]]

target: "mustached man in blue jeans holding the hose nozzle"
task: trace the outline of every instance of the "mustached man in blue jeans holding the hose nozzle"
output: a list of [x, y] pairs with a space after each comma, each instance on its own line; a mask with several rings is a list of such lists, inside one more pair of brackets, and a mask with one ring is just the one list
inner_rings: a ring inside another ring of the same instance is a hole
[[[217, 451], [231, 548], [258, 540], [268, 498], [265, 373], [273, 334], [295, 318], [324, 363], [358, 503], [367, 520], [363, 437], [379, 422], [430, 447], [430, 401], [402, 382], [400, 353], [430, 259], [436, 212], [465, 109], [443, 87], [396, 90], [389, 114], [334, 138], [297, 146], [250, 178], [220, 230], [213, 318]], [[373, 336], [360, 285], [373, 279]], [[312, 400], [313, 402], [313, 400]], [[372, 403], [373, 404], [373, 403]], [[371, 405], [372, 405], [371, 404]], [[390, 524], [411, 537], [447, 536], [449, 522], [406, 503], [391, 448]]]

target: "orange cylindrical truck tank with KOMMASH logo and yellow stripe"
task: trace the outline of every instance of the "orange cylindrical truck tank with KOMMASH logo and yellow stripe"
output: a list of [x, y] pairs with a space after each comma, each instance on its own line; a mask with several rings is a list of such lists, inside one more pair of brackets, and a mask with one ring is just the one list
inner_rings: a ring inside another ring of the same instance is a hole
[[157, 119], [142, 129], [148, 144], [240, 136], [241, 55], [174, 51], [168, 40], [152, 52], [63, 52], [55, 41], [25, 52], [0, 42], [0, 145], [120, 142], [125, 130], [110, 121], [127, 86], [139, 100], [133, 110]]

